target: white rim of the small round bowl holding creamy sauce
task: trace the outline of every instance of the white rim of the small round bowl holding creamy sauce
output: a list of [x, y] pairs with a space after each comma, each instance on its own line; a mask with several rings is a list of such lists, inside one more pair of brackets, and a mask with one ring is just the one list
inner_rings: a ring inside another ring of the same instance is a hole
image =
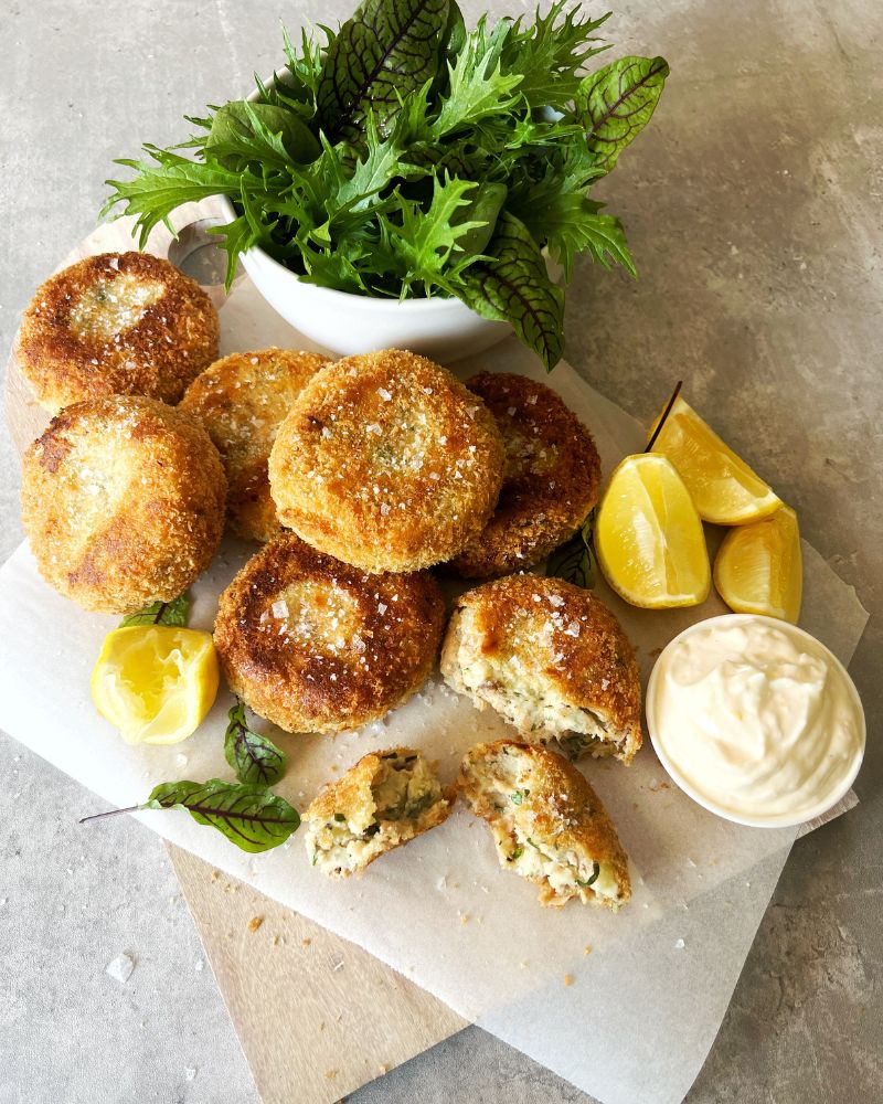
[[[744, 624], [746, 622], [753, 622], [753, 623], [759, 622], [760, 624], [764, 625], [772, 625], [775, 628], [781, 629], [783, 631], [790, 634], [797, 639], [805, 641], [807, 645], [810, 646], [812, 650], [820, 652], [825, 657], [826, 661], [830, 665], [832, 671], [842, 679], [843, 684], [847, 688], [847, 693], [852, 700], [853, 705], [855, 707], [857, 715], [861, 719], [860, 746], [845, 775], [841, 778], [840, 783], [833, 786], [827, 794], [825, 794], [817, 802], [815, 806], [807, 809], [802, 809], [799, 815], [777, 814], [769, 817], [746, 817], [746, 816], [735, 815], [730, 809], [726, 809], [717, 805], [715, 802], [711, 800], [703, 794], [699, 793], [681, 773], [680, 768], [678, 767], [678, 764], [673, 762], [671, 757], [666, 753], [664, 747], [662, 747], [661, 742], [657, 736], [657, 724], [656, 724], [657, 686], [658, 686], [657, 672], [662, 669], [661, 665], [663, 658], [668, 655], [668, 652], [672, 651], [685, 637], [691, 636], [693, 633], [698, 633], [702, 629], [708, 628], [709, 625], [715, 625], [715, 624], [738, 625], [740, 623]], [[692, 797], [692, 799], [698, 805], [701, 805], [704, 809], [708, 809], [709, 813], [714, 813], [716, 816], [723, 817], [725, 820], [732, 820], [735, 824], [747, 825], [749, 828], [791, 828], [796, 825], [806, 824], [808, 820], [812, 820], [816, 817], [822, 816], [822, 814], [827, 813], [830, 808], [837, 805], [839, 800], [841, 800], [843, 797], [847, 796], [862, 765], [862, 760], [864, 758], [864, 745], [866, 735], [864, 710], [862, 708], [861, 699], [859, 697], [859, 691], [855, 689], [855, 683], [850, 678], [845, 667], [843, 667], [843, 665], [840, 662], [840, 660], [837, 658], [837, 656], [834, 656], [832, 651], [826, 648], [825, 645], [820, 640], [817, 640], [816, 637], [812, 636], [810, 633], [807, 633], [805, 629], [798, 628], [796, 625], [791, 625], [788, 622], [779, 620], [776, 617], [764, 617], [760, 614], [722, 614], [720, 617], [708, 617], [705, 618], [705, 620], [695, 622], [695, 624], [690, 625], [688, 628], [685, 628], [683, 633], [679, 633], [678, 636], [675, 636], [674, 639], [670, 640], [668, 645], [662, 649], [661, 654], [657, 658], [656, 664], [653, 665], [653, 669], [650, 672], [650, 680], [647, 683], [647, 694], [645, 697], [645, 712], [647, 714], [647, 729], [650, 733], [650, 741], [653, 745], [653, 751], [656, 752], [659, 762], [668, 772], [672, 782], [674, 782], [674, 784], [680, 789], [682, 789], [689, 797]]]

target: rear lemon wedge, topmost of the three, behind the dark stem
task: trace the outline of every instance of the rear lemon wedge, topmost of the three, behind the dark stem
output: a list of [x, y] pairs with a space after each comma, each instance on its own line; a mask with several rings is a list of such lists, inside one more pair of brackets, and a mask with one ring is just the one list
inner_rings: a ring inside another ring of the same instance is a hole
[[[651, 437], [658, 425], [659, 418], [650, 431]], [[678, 469], [704, 521], [744, 526], [768, 517], [781, 506], [773, 488], [680, 396], [653, 442], [652, 452], [668, 456]]]

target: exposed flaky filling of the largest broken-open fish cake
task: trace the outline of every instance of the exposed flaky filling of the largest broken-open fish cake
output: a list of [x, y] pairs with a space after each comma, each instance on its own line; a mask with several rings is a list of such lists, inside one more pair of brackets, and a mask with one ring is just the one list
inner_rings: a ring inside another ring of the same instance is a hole
[[551, 619], [545, 614], [519, 614], [508, 638], [490, 651], [483, 647], [485, 634], [475, 627], [475, 611], [466, 607], [459, 616], [460, 678], [467, 693], [487, 702], [520, 732], [560, 740], [572, 758], [586, 751], [611, 755], [625, 744], [628, 733], [611, 731], [598, 713], [567, 701], [558, 688], [554, 668], [565, 657], [555, 650], [554, 636], [558, 629], [573, 635], [579, 630], [578, 622], [567, 624], [554, 612]]

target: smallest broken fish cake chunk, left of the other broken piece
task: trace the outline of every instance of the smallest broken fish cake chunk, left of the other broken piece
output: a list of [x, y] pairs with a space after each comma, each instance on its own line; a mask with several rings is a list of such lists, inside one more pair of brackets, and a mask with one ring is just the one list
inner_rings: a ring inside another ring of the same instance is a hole
[[310, 863], [329, 878], [349, 878], [381, 854], [447, 820], [445, 793], [412, 747], [363, 755], [319, 794], [304, 815]]

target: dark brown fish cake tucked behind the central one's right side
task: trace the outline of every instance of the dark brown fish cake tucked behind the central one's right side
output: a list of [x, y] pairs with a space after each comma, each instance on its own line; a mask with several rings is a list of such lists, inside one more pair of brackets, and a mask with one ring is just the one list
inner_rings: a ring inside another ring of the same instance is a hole
[[532, 567], [573, 537], [598, 500], [600, 459], [551, 388], [508, 372], [480, 372], [466, 386], [497, 420], [506, 474], [493, 516], [450, 566], [487, 578]]

